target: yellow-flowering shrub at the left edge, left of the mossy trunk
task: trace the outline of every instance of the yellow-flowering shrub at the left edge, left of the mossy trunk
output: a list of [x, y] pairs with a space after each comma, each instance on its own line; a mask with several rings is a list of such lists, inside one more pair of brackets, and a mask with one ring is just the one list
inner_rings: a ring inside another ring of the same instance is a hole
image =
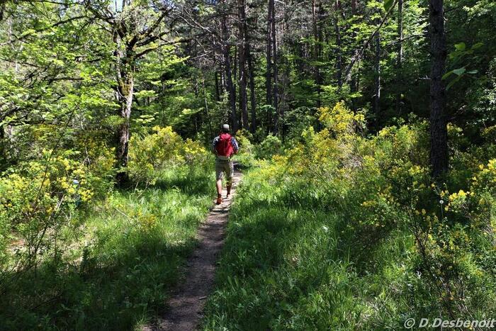
[[24, 267], [49, 252], [59, 254], [64, 245], [60, 233], [75, 225], [77, 206], [86, 206], [104, 186], [100, 175], [105, 169], [92, 173], [74, 159], [78, 152], [68, 150], [51, 158], [50, 154], [45, 152], [45, 162], [19, 164], [0, 178], [0, 226], [6, 230], [0, 237], [3, 267], [8, 267], [7, 249], [16, 252], [12, 263]]

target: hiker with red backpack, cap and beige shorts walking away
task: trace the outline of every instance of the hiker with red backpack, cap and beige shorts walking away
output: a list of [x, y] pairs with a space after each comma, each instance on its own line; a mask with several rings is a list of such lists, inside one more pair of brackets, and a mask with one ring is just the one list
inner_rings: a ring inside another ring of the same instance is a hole
[[212, 151], [215, 154], [215, 179], [217, 179], [217, 201], [220, 205], [222, 203], [222, 177], [226, 176], [227, 197], [231, 193], [232, 186], [232, 173], [234, 166], [232, 164], [232, 155], [237, 154], [239, 146], [237, 141], [230, 135], [230, 128], [228, 124], [222, 125], [222, 130], [212, 142]]

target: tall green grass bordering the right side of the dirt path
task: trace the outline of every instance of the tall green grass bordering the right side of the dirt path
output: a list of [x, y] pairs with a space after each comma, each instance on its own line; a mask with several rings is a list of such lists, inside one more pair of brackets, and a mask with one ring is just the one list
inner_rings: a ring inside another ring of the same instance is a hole
[[402, 327], [412, 238], [396, 231], [353, 246], [338, 208], [315, 206], [320, 199], [295, 196], [302, 183], [270, 183], [260, 171], [237, 191], [203, 329]]

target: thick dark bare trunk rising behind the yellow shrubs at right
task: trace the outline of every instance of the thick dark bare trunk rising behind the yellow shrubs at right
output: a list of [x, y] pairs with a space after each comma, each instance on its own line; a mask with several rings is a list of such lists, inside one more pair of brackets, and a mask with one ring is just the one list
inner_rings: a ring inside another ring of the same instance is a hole
[[432, 175], [439, 178], [448, 170], [448, 130], [444, 107], [446, 89], [441, 77], [446, 62], [446, 35], [444, 35], [443, 0], [429, 0], [429, 23], [431, 35], [431, 86], [430, 86], [430, 133]]

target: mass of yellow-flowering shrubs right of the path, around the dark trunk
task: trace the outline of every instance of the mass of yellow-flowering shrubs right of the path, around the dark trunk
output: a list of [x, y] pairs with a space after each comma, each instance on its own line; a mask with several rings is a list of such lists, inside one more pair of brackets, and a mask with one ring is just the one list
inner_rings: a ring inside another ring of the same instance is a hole
[[[495, 305], [481, 305], [496, 298], [496, 159], [485, 159], [494, 141], [468, 149], [463, 130], [450, 125], [453, 169], [446, 183], [433, 184], [426, 121], [365, 138], [363, 116], [344, 103], [319, 113], [322, 130], [304, 130], [301, 143], [260, 171], [286, 192], [284, 204], [342, 213], [339, 240], [358, 272], [376, 272], [368, 266], [389, 259], [373, 249], [398, 233], [408, 238], [400, 244], [402, 278], [395, 281], [402, 289], [395, 291], [415, 317], [495, 311]], [[415, 301], [407, 299], [411, 291]]]

